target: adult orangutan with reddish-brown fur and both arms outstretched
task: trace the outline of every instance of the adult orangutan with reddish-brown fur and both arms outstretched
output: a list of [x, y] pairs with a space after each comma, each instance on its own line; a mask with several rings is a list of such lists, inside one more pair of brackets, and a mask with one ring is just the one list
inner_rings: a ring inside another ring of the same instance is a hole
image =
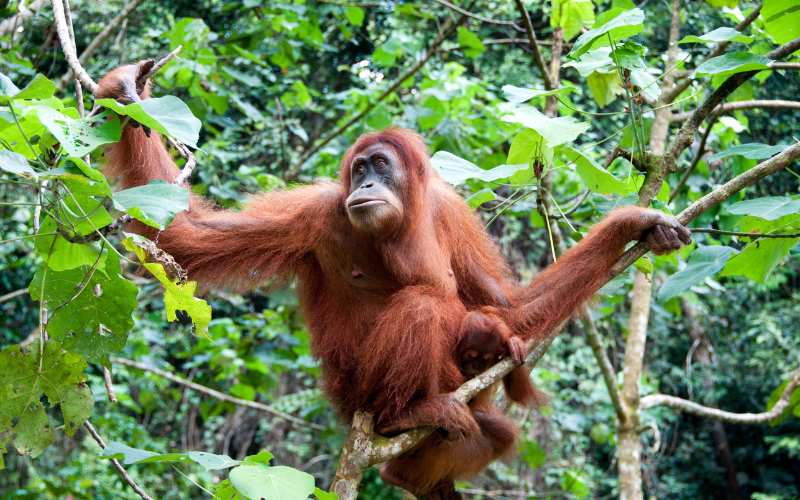
[[[146, 98], [139, 80], [151, 64], [113, 70], [97, 96]], [[178, 173], [158, 134], [131, 125], [107, 159], [107, 174], [123, 187]], [[239, 212], [193, 197], [158, 245], [206, 286], [244, 290], [296, 277], [324, 389], [344, 418], [371, 411], [381, 433], [440, 429], [384, 466], [384, 479], [423, 498], [458, 498], [453, 480], [508, 453], [516, 434], [488, 393], [469, 406], [452, 397], [474, 371], [470, 362], [487, 352], [520, 361], [519, 340], [566, 320], [637, 239], [661, 253], [689, 242], [689, 232], [653, 210], [619, 209], [518, 286], [478, 219], [431, 168], [422, 139], [392, 128], [356, 141], [339, 182], [261, 194]], [[519, 384], [509, 392], [528, 401], [522, 370], [509, 376]]]

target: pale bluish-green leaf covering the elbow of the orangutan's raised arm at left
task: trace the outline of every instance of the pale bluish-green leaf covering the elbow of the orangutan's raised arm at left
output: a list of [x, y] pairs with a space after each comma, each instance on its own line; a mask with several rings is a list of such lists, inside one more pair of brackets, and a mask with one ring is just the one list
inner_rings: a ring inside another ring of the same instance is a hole
[[189, 190], [161, 180], [114, 193], [114, 207], [156, 229], [166, 228], [189, 208]]

